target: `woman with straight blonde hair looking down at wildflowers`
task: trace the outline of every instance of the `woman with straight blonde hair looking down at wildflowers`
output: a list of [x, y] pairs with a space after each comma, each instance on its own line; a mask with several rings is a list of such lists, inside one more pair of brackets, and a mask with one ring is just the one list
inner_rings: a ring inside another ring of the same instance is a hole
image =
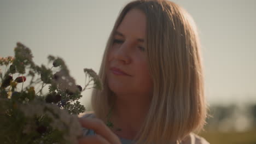
[[89, 130], [79, 143], [208, 143], [191, 133], [206, 118], [200, 43], [177, 4], [127, 4], [99, 75], [104, 90], [92, 93], [94, 113], [80, 119]]

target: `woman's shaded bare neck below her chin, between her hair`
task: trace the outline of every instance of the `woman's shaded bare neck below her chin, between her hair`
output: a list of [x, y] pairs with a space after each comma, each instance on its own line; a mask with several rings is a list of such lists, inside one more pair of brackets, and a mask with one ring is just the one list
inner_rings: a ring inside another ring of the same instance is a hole
[[[142, 95], [118, 95], [115, 100], [111, 121], [114, 133], [124, 139], [135, 139], [147, 116], [150, 98]], [[117, 130], [118, 128], [118, 130]]]

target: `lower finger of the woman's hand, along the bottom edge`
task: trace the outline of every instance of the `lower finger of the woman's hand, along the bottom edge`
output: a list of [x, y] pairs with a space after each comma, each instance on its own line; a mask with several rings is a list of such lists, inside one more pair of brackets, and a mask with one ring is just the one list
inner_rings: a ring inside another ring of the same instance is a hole
[[105, 140], [102, 136], [100, 135], [90, 135], [90, 136], [85, 136], [82, 137], [81, 139], [78, 140], [79, 144], [110, 144], [107, 140]]

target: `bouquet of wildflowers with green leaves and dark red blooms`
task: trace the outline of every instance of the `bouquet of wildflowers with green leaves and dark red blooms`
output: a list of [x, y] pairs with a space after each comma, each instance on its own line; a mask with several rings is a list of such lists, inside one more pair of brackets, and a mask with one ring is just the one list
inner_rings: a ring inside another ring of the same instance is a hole
[[[77, 115], [85, 89], [102, 89], [101, 80], [84, 69], [85, 86], [75, 84], [63, 59], [48, 56], [51, 68], [32, 61], [31, 50], [17, 43], [14, 57], [0, 57], [1, 143], [78, 143]], [[47, 86], [49, 91], [43, 92]]]

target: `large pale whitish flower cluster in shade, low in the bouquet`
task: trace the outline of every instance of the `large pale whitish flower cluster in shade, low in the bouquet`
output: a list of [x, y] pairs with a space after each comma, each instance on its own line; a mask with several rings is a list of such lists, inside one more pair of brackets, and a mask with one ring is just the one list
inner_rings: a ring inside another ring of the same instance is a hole
[[[78, 143], [78, 136], [82, 135], [82, 126], [78, 121], [78, 117], [70, 115], [66, 110], [60, 109], [55, 104], [44, 103], [43, 101], [31, 101], [28, 104], [20, 105], [20, 109], [26, 117], [48, 116], [52, 119], [50, 126], [53, 129], [64, 132], [63, 139], [71, 143]], [[56, 117], [57, 116], [57, 117]], [[30, 133], [35, 129], [36, 123], [28, 122], [24, 133]]]

